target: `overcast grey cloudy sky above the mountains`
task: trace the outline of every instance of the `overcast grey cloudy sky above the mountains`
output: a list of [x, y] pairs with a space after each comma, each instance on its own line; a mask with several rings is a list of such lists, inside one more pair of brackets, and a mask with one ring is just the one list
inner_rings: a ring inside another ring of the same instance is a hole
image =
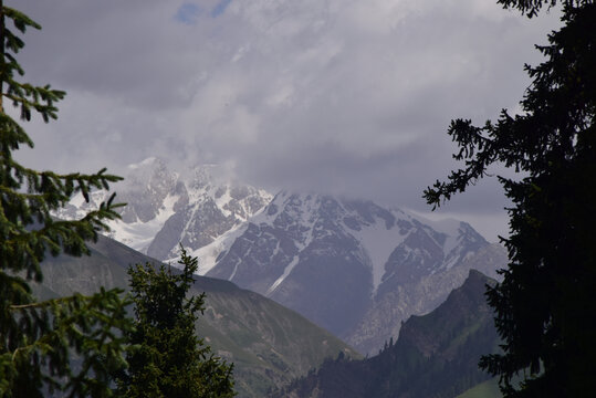
[[[419, 212], [457, 167], [451, 118], [513, 112], [524, 62], [558, 25], [491, 0], [19, 0], [28, 81], [65, 90], [27, 127], [28, 166], [113, 171], [149, 156], [228, 166], [272, 191], [316, 190]], [[439, 216], [506, 233], [494, 180]]]

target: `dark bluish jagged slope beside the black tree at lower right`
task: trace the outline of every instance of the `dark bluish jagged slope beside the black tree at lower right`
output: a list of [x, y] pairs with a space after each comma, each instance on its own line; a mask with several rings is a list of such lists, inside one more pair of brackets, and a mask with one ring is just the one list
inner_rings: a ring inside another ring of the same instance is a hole
[[271, 397], [454, 397], [489, 379], [480, 355], [498, 347], [484, 290], [490, 279], [477, 271], [445, 303], [411, 316], [395, 345], [364, 359], [326, 360], [316, 371]]

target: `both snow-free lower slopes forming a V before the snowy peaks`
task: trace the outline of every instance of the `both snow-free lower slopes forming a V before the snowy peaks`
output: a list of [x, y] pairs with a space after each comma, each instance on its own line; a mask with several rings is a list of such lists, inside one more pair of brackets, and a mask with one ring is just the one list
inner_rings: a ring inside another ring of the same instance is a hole
[[[132, 263], [156, 262], [108, 238], [90, 258], [61, 255], [43, 263], [43, 297], [100, 286], [126, 287]], [[496, 349], [484, 285], [474, 270], [445, 303], [404, 323], [399, 338], [362, 359], [349, 346], [301, 315], [231, 282], [197, 276], [190, 294], [207, 292], [198, 333], [217, 355], [234, 363], [239, 397], [499, 397], [494, 380], [478, 369]], [[473, 388], [472, 388], [473, 387]], [[478, 390], [478, 391], [477, 391]], [[474, 392], [475, 391], [475, 392]], [[490, 391], [489, 395], [487, 395]]]

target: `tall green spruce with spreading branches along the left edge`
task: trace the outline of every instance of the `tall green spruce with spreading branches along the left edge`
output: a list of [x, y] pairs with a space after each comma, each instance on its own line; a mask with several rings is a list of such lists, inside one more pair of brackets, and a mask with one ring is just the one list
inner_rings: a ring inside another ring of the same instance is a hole
[[[12, 22], [9, 27], [8, 22]], [[119, 178], [105, 174], [60, 175], [27, 168], [12, 157], [21, 145], [33, 143], [21, 125], [4, 112], [4, 100], [20, 111], [56, 118], [55, 103], [64, 92], [50, 85], [22, 83], [17, 61], [28, 28], [40, 25], [0, 0], [0, 397], [106, 397], [109, 375], [125, 365], [122, 332], [130, 327], [122, 291], [83, 296], [75, 294], [39, 302], [31, 284], [43, 279], [46, 253], [88, 253], [105, 220], [115, 219], [114, 196], [81, 220], [51, 217], [70, 198], [91, 189], [108, 189]]]

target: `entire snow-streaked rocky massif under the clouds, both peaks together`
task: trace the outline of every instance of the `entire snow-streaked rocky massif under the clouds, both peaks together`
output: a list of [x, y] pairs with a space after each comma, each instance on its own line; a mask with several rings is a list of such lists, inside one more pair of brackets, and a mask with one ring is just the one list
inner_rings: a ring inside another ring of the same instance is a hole
[[[218, 166], [171, 171], [157, 158], [130, 165], [127, 202], [111, 237], [160, 261], [178, 244], [199, 274], [296, 311], [363, 354], [397, 337], [410, 315], [429, 313], [477, 269], [496, 277], [506, 252], [457, 220], [429, 221], [368, 200], [280, 191], [226, 178]], [[87, 205], [75, 197], [59, 217]]]

